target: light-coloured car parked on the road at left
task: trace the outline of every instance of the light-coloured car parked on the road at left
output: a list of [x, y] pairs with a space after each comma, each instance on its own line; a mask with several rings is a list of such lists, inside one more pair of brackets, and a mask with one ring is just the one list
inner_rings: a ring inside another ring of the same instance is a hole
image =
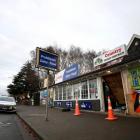
[[13, 97], [0, 96], [0, 111], [16, 112], [16, 101]]

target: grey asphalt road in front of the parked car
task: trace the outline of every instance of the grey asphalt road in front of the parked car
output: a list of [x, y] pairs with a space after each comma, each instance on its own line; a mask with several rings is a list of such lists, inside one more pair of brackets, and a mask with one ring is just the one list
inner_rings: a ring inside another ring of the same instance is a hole
[[34, 140], [16, 114], [0, 112], [0, 140]]

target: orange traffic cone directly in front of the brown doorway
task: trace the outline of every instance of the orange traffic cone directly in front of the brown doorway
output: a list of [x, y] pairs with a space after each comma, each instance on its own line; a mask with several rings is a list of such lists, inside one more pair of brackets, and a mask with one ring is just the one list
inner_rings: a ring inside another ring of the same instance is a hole
[[115, 117], [113, 114], [112, 105], [111, 105], [111, 101], [110, 101], [109, 96], [108, 96], [108, 117], [105, 119], [110, 120], [110, 121], [117, 119], [117, 117]]

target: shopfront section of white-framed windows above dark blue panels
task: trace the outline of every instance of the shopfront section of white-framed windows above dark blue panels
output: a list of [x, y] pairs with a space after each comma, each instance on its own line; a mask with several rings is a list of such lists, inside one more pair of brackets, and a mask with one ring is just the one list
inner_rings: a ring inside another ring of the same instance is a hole
[[61, 84], [55, 87], [54, 106], [75, 108], [78, 97], [79, 106], [83, 110], [101, 110], [100, 79], [87, 79], [73, 84]]

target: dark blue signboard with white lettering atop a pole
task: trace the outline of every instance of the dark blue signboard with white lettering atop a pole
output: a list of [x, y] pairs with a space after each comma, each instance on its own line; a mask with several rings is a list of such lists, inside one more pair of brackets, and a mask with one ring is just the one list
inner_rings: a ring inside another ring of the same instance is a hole
[[57, 70], [57, 60], [56, 54], [37, 48], [37, 66]]

